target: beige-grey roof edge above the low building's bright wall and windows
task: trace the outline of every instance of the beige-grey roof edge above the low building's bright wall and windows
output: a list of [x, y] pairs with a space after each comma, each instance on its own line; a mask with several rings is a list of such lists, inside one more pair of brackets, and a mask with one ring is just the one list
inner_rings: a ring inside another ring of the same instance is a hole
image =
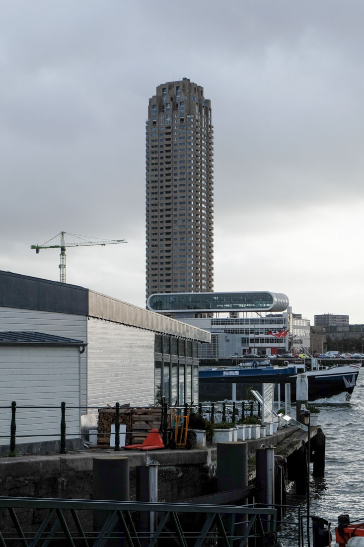
[[158, 333], [190, 338], [199, 342], [211, 341], [211, 335], [207, 330], [192, 327], [192, 325], [177, 319], [171, 319], [160, 313], [122, 302], [91, 289], [89, 289], [89, 316]]

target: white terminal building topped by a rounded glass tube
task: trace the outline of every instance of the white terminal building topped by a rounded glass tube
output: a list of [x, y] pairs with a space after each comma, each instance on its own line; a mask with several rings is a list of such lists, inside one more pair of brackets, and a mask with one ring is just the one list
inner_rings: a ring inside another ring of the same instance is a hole
[[283, 293], [268, 291], [153, 294], [151, 311], [211, 334], [198, 349], [200, 359], [224, 359], [257, 353], [284, 354], [310, 347], [310, 324], [292, 313]]

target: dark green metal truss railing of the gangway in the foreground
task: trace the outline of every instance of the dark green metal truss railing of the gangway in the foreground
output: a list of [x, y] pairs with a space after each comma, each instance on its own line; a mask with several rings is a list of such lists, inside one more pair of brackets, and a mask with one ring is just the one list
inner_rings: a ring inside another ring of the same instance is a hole
[[[29, 512], [32, 511], [32, 513]], [[150, 513], [157, 515], [150, 528]], [[143, 521], [141, 515], [146, 515]], [[275, 532], [273, 508], [0, 497], [0, 545], [244, 546]], [[117, 543], [114, 543], [116, 540]]]

